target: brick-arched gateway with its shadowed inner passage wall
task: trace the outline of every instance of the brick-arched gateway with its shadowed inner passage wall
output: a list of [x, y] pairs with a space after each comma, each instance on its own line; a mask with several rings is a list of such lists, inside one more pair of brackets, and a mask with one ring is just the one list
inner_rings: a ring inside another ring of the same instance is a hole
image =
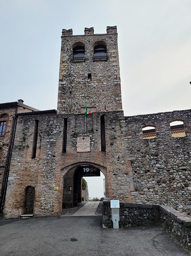
[[106, 167], [98, 163], [76, 162], [61, 170], [63, 176], [63, 207], [73, 207], [82, 201], [82, 177], [83, 172], [86, 171], [91, 171], [91, 174], [101, 171], [104, 174], [107, 195]]

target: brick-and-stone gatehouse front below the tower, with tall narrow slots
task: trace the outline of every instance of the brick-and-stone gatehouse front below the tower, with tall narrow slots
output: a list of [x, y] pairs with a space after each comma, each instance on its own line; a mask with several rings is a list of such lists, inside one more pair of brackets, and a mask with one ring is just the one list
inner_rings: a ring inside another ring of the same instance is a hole
[[[24, 188], [35, 187], [34, 216], [59, 215], [62, 210], [63, 188], [72, 187], [65, 194], [67, 202], [73, 204], [73, 177], [80, 165], [91, 165], [105, 175], [106, 195], [134, 202], [131, 195], [132, 181], [120, 181], [116, 173], [123, 170], [126, 179], [132, 179], [131, 162], [121, 160], [121, 126], [123, 112], [105, 113], [106, 152], [101, 151], [101, 123], [103, 113], [93, 113], [86, 119], [84, 114], [56, 114], [55, 111], [18, 114], [13, 147], [7, 198], [4, 215], [16, 218], [23, 214]], [[67, 148], [62, 153], [64, 118], [68, 118]], [[36, 158], [32, 158], [35, 120], [38, 120]], [[76, 152], [77, 137], [90, 137], [90, 152]], [[69, 179], [67, 178], [69, 177]], [[58, 190], [54, 190], [57, 186]], [[65, 190], [64, 190], [65, 191]], [[14, 205], [13, 202], [14, 201]]]

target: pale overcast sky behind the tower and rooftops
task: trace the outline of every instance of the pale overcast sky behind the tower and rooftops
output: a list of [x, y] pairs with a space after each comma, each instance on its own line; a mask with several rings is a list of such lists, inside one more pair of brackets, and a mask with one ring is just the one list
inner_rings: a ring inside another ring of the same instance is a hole
[[125, 115], [191, 108], [190, 0], [0, 0], [0, 102], [57, 108], [62, 29], [118, 28]]

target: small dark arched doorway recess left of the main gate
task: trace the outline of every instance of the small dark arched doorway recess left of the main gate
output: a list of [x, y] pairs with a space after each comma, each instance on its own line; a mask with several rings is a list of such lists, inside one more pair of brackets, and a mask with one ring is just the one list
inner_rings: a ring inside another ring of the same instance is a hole
[[35, 188], [27, 186], [24, 189], [24, 214], [33, 214], [35, 201]]

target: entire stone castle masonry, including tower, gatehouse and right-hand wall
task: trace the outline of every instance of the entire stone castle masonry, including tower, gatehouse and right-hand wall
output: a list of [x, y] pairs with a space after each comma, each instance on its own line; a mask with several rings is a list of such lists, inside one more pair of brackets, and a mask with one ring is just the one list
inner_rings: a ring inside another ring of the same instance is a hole
[[[5, 218], [27, 212], [30, 187], [34, 216], [60, 215], [62, 207], [80, 202], [84, 165], [105, 175], [106, 197], [190, 214], [191, 111], [124, 117], [117, 27], [106, 34], [85, 28], [84, 35], [63, 29], [61, 38], [57, 111], [15, 115]], [[86, 102], [92, 114], [85, 132]], [[172, 137], [176, 120], [184, 123], [185, 137]], [[149, 126], [156, 137], [144, 139]], [[90, 152], [77, 152], [78, 137], [90, 137]]]

